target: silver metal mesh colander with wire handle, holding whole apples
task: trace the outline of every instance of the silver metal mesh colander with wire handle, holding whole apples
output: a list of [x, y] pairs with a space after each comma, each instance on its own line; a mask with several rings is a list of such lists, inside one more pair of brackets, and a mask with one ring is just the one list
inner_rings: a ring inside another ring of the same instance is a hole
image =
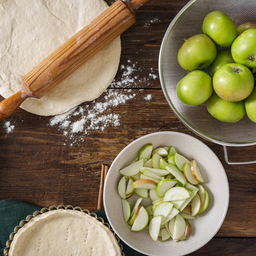
[[[183, 70], [177, 61], [178, 50], [184, 43], [184, 38], [203, 33], [202, 24], [205, 16], [215, 10], [227, 13], [235, 20], [236, 26], [256, 21], [256, 0], [191, 0], [172, 20], [163, 39], [159, 58], [161, 86], [169, 105], [184, 125], [199, 136], [224, 146], [227, 163], [256, 163], [229, 162], [226, 148], [256, 144], [256, 123], [250, 121], [247, 116], [236, 123], [221, 122], [208, 113], [206, 103], [198, 107], [189, 107], [177, 98], [177, 84], [189, 73]], [[218, 47], [218, 51], [221, 49], [223, 48]], [[209, 68], [205, 71], [210, 75]]]

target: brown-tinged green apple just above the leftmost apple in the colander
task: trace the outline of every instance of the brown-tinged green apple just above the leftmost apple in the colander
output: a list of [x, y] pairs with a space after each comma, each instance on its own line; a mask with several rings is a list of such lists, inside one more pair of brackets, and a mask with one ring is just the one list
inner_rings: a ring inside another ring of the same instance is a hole
[[178, 52], [180, 66], [188, 71], [204, 70], [215, 60], [217, 47], [207, 35], [194, 35], [187, 39]]

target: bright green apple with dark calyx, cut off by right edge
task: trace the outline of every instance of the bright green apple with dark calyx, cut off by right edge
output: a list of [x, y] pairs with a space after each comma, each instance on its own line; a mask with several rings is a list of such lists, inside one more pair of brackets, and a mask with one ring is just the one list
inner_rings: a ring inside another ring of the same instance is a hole
[[231, 47], [234, 61], [249, 68], [256, 67], [256, 29], [244, 31]]

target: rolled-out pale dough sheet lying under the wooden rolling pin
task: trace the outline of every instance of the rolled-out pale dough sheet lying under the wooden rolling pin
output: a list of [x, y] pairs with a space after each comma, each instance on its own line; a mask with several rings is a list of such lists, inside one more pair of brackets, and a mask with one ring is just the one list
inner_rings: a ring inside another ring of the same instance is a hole
[[[0, 94], [22, 87], [22, 77], [108, 8], [103, 0], [0, 0]], [[21, 108], [41, 116], [69, 111], [98, 98], [116, 75], [120, 37], [42, 99]]]

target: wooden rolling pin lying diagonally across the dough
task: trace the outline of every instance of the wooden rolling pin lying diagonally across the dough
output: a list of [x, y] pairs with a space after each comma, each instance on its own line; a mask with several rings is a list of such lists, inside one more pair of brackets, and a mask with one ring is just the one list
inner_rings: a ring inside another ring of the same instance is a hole
[[11, 116], [25, 99], [42, 98], [70, 76], [132, 26], [136, 21], [136, 10], [150, 1], [117, 0], [23, 77], [21, 90], [0, 102], [0, 120]]

